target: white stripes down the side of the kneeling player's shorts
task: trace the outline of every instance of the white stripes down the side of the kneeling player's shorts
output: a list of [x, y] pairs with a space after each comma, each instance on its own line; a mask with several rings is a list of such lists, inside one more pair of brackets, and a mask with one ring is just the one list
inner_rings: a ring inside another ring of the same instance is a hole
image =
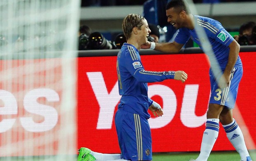
[[141, 132], [141, 125], [140, 125], [140, 116], [138, 114], [133, 114], [133, 116], [134, 116], [134, 122], [135, 122], [138, 160], [142, 161], [143, 149], [142, 149], [142, 132]]

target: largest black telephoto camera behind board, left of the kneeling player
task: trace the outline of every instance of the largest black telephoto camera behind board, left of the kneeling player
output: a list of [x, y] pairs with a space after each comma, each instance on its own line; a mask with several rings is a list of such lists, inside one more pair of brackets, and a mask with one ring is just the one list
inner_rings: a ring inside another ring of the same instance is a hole
[[89, 36], [89, 45], [92, 50], [116, 49], [116, 45], [104, 38], [101, 33], [94, 32]]

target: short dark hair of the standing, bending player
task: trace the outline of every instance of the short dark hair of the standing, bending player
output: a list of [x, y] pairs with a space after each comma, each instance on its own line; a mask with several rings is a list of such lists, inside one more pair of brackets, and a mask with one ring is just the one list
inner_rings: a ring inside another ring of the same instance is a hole
[[177, 9], [178, 12], [185, 11], [187, 14], [190, 14], [190, 8], [185, 0], [171, 0], [166, 5], [166, 10], [170, 8]]

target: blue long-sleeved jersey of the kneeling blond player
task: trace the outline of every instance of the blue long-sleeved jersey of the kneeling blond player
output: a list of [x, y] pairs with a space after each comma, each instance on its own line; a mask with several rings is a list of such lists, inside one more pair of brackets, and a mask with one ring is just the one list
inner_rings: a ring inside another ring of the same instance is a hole
[[123, 44], [117, 55], [116, 69], [119, 94], [122, 95], [118, 108], [123, 107], [125, 111], [145, 118], [150, 117], [147, 110], [153, 103], [147, 95], [147, 83], [173, 79], [175, 75], [174, 71], [146, 71], [139, 51], [128, 43]]

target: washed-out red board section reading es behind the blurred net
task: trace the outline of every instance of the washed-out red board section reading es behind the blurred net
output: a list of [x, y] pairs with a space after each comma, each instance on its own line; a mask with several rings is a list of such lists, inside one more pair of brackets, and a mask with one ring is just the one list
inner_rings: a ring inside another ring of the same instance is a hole
[[0, 60], [0, 157], [56, 155], [62, 60]]

